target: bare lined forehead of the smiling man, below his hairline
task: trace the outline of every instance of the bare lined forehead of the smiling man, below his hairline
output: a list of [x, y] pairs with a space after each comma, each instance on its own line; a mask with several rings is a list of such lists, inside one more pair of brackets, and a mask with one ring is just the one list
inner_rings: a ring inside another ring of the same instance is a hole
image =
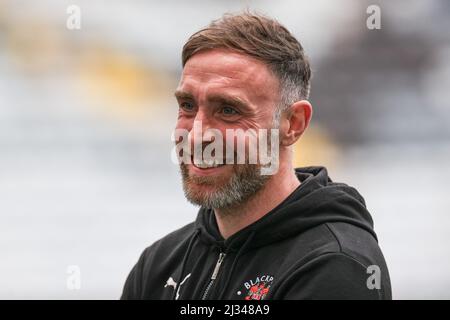
[[278, 95], [278, 79], [262, 61], [230, 50], [214, 49], [196, 53], [186, 62], [178, 89], [193, 94], [230, 89], [249, 98], [267, 99]]

